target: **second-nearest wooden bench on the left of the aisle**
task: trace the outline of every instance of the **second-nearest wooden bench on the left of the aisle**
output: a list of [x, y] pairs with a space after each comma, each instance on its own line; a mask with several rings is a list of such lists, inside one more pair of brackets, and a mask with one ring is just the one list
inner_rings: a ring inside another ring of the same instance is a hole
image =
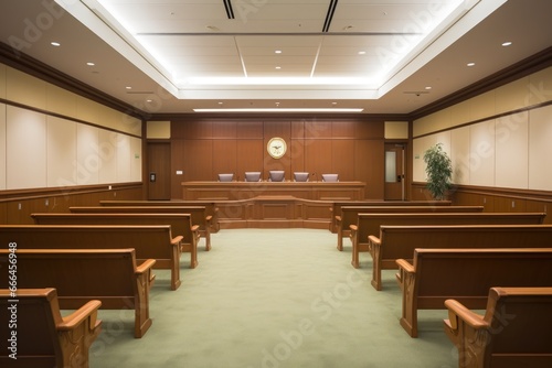
[[[77, 239], [76, 239], [77, 240]], [[0, 288], [8, 289], [9, 249], [0, 249]], [[55, 288], [62, 310], [91, 300], [102, 309], [135, 310], [135, 337], [151, 326], [149, 290], [155, 259], [136, 263], [134, 249], [17, 249], [18, 288]]]

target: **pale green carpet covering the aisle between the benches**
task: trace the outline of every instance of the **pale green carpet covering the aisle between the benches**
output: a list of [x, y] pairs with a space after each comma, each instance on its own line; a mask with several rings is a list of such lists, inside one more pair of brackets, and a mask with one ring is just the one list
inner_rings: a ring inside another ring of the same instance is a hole
[[418, 313], [420, 337], [399, 324], [395, 271], [371, 285], [371, 259], [353, 269], [351, 245], [314, 229], [233, 229], [181, 260], [182, 285], [156, 270], [153, 324], [134, 338], [134, 311], [100, 311], [103, 332], [91, 367], [457, 367], [443, 331], [446, 311]]

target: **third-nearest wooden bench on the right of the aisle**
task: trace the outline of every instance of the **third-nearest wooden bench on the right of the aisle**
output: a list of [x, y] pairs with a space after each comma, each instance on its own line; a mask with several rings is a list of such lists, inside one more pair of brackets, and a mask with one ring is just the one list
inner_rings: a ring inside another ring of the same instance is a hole
[[372, 286], [381, 290], [381, 271], [396, 269], [397, 259], [411, 261], [416, 248], [550, 248], [552, 225], [382, 225], [369, 242]]

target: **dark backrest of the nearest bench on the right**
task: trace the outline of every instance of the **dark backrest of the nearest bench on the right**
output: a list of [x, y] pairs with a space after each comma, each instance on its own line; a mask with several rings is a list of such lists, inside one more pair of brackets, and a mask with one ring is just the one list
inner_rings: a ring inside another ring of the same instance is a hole
[[490, 324], [490, 366], [530, 367], [542, 361], [550, 367], [551, 311], [552, 288], [492, 288], [484, 317]]

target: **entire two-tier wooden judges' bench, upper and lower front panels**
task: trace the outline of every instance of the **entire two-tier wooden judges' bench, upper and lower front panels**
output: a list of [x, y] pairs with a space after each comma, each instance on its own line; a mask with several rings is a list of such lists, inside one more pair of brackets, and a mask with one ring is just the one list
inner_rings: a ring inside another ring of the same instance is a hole
[[361, 201], [363, 182], [183, 182], [184, 201], [216, 203], [221, 228], [329, 229], [335, 201]]

